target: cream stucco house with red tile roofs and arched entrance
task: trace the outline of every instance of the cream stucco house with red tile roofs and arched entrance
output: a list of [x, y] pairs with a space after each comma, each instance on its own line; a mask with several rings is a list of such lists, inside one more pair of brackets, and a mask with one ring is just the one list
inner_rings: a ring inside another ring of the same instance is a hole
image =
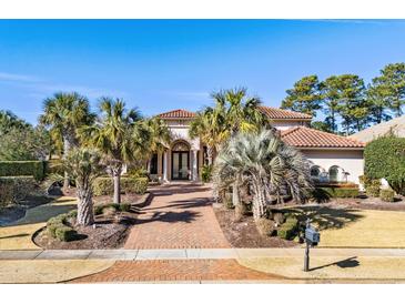
[[[357, 140], [310, 129], [311, 115], [260, 107], [282, 139], [302, 151], [310, 160], [311, 175], [321, 182], [354, 182], [363, 175], [364, 144]], [[149, 162], [151, 178], [165, 182], [175, 180], [198, 181], [201, 168], [207, 163], [206, 146], [199, 139], [191, 140], [189, 124], [195, 113], [173, 110], [158, 115], [173, 134], [173, 142], [164, 153], [158, 153]]]

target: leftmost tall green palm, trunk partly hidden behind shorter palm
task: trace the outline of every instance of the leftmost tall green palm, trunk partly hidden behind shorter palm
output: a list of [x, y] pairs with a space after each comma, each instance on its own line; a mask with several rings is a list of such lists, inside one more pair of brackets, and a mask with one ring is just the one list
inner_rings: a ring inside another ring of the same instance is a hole
[[[63, 158], [68, 155], [72, 148], [79, 144], [78, 129], [94, 121], [94, 114], [90, 112], [88, 99], [77, 92], [60, 92], [45, 99], [43, 111], [39, 121], [41, 124], [51, 128], [53, 139], [63, 141]], [[64, 175], [63, 188], [68, 188], [67, 172]]]

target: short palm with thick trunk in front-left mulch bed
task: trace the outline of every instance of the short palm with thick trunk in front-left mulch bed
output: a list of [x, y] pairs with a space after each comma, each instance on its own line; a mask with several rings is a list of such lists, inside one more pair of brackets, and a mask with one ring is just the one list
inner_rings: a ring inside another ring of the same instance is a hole
[[70, 178], [74, 179], [78, 193], [78, 220], [79, 225], [94, 223], [93, 189], [94, 180], [104, 172], [101, 156], [97, 150], [81, 148], [69, 152], [63, 161]]

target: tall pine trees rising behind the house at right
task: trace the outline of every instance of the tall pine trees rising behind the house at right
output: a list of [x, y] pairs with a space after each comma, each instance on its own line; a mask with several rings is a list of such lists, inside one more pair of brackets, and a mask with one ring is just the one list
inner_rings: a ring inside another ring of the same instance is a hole
[[345, 135], [403, 114], [405, 104], [405, 63], [385, 65], [369, 83], [356, 74], [331, 75], [321, 81], [316, 74], [303, 77], [286, 90], [282, 109], [307, 113], [324, 120], [312, 126]]

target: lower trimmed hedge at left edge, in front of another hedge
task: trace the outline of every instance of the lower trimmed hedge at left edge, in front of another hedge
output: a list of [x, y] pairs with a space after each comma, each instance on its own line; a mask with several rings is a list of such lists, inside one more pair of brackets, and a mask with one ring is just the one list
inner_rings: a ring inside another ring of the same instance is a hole
[[32, 176], [0, 178], [0, 204], [17, 203], [26, 199], [36, 185]]

